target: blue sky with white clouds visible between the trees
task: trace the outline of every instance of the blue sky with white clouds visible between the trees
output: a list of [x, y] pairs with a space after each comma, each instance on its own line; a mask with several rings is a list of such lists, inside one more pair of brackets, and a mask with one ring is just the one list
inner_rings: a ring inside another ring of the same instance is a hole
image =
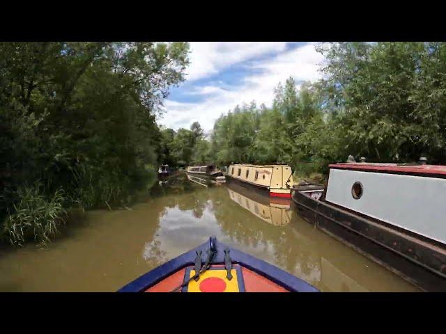
[[293, 77], [321, 78], [323, 56], [316, 42], [190, 42], [186, 81], [171, 88], [158, 122], [165, 127], [190, 128], [198, 121], [205, 132], [237, 104], [272, 104], [274, 88]]

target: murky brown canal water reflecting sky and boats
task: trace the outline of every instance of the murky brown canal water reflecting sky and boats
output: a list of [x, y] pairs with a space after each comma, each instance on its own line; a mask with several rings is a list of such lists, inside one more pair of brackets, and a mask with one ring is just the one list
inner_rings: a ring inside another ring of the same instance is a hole
[[183, 173], [131, 209], [82, 214], [45, 248], [0, 250], [0, 291], [113, 292], [210, 235], [323, 292], [419, 291], [302, 220], [292, 201]]

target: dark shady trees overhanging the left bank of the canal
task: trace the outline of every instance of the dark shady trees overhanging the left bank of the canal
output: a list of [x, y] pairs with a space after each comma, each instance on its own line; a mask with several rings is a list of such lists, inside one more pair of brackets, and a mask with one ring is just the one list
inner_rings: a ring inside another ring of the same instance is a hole
[[1, 216], [26, 182], [82, 207], [141, 187], [157, 164], [155, 116], [187, 52], [183, 42], [0, 43]]

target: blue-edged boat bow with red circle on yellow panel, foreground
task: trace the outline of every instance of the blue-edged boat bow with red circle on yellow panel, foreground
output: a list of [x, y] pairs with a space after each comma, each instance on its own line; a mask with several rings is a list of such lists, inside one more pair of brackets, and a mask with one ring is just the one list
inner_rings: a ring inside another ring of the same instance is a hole
[[209, 241], [162, 264], [118, 292], [318, 292], [267, 262]]

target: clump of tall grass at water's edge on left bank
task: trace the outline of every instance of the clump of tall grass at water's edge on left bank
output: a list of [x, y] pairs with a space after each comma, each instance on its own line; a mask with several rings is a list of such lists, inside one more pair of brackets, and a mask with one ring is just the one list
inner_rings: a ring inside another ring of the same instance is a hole
[[22, 245], [29, 239], [46, 244], [59, 232], [59, 225], [65, 223], [63, 190], [59, 189], [49, 197], [44, 194], [40, 182], [17, 189], [14, 212], [6, 217], [3, 225], [3, 237], [11, 244]]

